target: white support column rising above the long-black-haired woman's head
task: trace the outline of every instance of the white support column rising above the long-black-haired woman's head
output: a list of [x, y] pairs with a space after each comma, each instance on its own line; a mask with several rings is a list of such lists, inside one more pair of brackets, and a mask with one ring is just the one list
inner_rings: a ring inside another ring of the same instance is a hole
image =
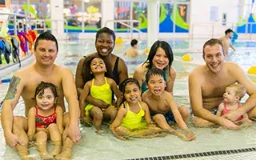
[[150, 48], [153, 43], [158, 39], [159, 14], [157, 0], [148, 1], [147, 19], [147, 46]]

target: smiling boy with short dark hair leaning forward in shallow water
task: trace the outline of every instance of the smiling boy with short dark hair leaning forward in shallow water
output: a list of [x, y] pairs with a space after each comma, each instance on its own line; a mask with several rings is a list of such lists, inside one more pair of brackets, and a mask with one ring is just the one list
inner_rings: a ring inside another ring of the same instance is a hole
[[[177, 122], [182, 130], [181, 132], [176, 131], [174, 134], [177, 134], [184, 141], [194, 140], [194, 134], [188, 130], [183, 121], [173, 96], [165, 90], [166, 82], [163, 78], [163, 71], [159, 69], [149, 70], [146, 73], [146, 86], [149, 90], [142, 94], [142, 101], [149, 106], [153, 121], [163, 130], [170, 130], [169, 124]], [[185, 136], [181, 134], [182, 132], [185, 133]]]

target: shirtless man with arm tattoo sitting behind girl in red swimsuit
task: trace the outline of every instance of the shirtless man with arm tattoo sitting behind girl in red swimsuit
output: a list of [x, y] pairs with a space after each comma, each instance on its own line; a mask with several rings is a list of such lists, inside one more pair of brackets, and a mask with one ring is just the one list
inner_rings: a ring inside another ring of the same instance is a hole
[[[49, 32], [40, 34], [34, 43], [34, 56], [36, 62], [22, 70], [18, 70], [11, 79], [9, 90], [3, 102], [2, 108], [2, 128], [6, 138], [6, 144], [20, 151], [22, 159], [30, 159], [27, 149], [28, 138], [27, 118], [14, 116], [14, 107], [18, 99], [22, 96], [25, 102], [25, 114], [35, 106], [34, 90], [42, 81], [52, 82], [58, 88], [58, 106], [62, 106], [65, 111], [64, 97], [69, 104], [69, 113], [64, 114], [63, 126], [63, 149], [57, 159], [69, 159], [71, 156], [71, 147], [73, 142], [80, 139], [78, 129], [78, 118], [80, 110], [78, 105], [77, 92], [74, 84], [74, 75], [70, 69], [54, 64], [58, 54], [58, 42], [54, 35]], [[68, 138], [67, 138], [68, 136]]]

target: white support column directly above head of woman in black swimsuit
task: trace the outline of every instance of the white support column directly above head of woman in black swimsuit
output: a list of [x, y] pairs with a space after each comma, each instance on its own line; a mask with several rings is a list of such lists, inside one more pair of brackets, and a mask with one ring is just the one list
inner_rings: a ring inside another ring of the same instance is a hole
[[[102, 27], [105, 26], [107, 20], [114, 20], [114, 0], [102, 1]], [[111, 30], [114, 30], [114, 23], [106, 24]]]

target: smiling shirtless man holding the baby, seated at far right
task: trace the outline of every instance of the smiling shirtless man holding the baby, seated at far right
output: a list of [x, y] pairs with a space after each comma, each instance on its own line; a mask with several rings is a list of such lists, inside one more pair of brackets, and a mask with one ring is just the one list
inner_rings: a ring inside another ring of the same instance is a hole
[[[248, 112], [249, 118], [256, 117], [256, 86], [247, 78], [240, 66], [233, 62], [224, 62], [222, 42], [218, 39], [207, 41], [202, 50], [202, 58], [206, 65], [196, 67], [189, 75], [190, 104], [195, 116], [196, 126], [212, 126], [215, 124], [236, 130], [238, 117]], [[247, 99], [237, 110], [224, 117], [216, 116], [217, 107], [223, 102], [226, 86], [238, 82], [246, 87]]]

